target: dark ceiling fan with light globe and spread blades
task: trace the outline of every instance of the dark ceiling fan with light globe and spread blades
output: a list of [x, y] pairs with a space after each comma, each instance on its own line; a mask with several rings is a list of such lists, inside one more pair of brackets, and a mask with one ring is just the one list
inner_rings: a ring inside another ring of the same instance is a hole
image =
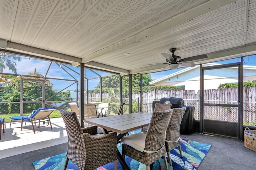
[[[203, 55], [196, 55], [196, 56], [193, 56], [193, 57], [188, 57], [188, 58], [181, 59], [180, 56], [174, 55], [174, 52], [176, 50], [177, 50], [176, 48], [171, 48], [170, 49], [170, 52], [172, 53], [172, 55], [162, 53], [162, 55], [166, 58], [166, 63], [156, 63], [156, 64], [168, 64], [162, 70], [176, 69], [176, 68], [179, 67], [179, 65], [182, 65], [182, 66], [185, 66], [185, 67], [194, 67], [194, 66], [196, 66], [196, 64], [186, 63], [186, 61], [193, 61], [193, 60], [197, 60], [197, 59], [207, 58], [207, 55], [203, 54]], [[147, 65], [152, 65], [152, 64], [147, 64]]]

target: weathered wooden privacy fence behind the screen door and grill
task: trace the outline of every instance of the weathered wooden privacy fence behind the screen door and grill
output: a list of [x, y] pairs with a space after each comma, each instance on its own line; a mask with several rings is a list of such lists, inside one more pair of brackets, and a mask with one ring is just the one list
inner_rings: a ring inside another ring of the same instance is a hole
[[[108, 98], [109, 102], [118, 99], [109, 98], [108, 94], [102, 94], [103, 98]], [[143, 93], [142, 111], [151, 113], [152, 102], [159, 100], [163, 97], [178, 97], [184, 99], [185, 105], [196, 107], [195, 119], [199, 120], [199, 99], [200, 91], [195, 90], [154, 90], [147, 93]], [[244, 124], [256, 125], [256, 87], [244, 88]], [[132, 94], [133, 102], [137, 102], [137, 98], [140, 98], [140, 94]], [[100, 94], [90, 94], [90, 101], [99, 101]], [[209, 89], [204, 90], [204, 102], [205, 103], [219, 103], [219, 104], [237, 104], [238, 89]], [[242, 102], [242, 101], [241, 101]], [[204, 107], [204, 119], [231, 121], [237, 122], [238, 111], [236, 107], [216, 107], [205, 106]]]

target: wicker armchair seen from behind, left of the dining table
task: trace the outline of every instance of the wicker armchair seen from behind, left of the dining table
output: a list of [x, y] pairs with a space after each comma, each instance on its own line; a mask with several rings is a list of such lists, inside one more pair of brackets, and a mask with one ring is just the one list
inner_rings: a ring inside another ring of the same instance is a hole
[[68, 134], [64, 170], [71, 160], [80, 170], [93, 170], [114, 161], [117, 170], [117, 134], [97, 134], [97, 127], [81, 128], [76, 113], [60, 109]]

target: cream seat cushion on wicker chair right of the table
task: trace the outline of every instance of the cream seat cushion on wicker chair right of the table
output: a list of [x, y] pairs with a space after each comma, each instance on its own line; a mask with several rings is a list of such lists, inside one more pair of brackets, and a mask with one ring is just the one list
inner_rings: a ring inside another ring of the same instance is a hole
[[140, 152], [144, 152], [145, 150], [145, 140], [146, 140], [146, 134], [144, 133], [135, 133], [131, 134], [129, 136], [124, 136], [121, 139], [121, 142], [133, 147], [136, 150], [139, 150]]

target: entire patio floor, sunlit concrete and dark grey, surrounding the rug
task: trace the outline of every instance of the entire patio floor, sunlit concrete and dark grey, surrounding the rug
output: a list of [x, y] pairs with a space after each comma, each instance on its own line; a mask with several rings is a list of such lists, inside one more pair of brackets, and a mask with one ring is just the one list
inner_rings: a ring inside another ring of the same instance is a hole
[[[35, 128], [31, 124], [20, 131], [20, 123], [6, 123], [0, 140], [0, 170], [34, 169], [32, 161], [66, 152], [67, 134], [62, 118], [52, 118], [50, 126]], [[244, 142], [234, 138], [183, 134], [182, 138], [211, 144], [208, 154], [198, 170], [254, 170], [255, 152], [244, 147]], [[10, 166], [11, 165], [11, 166]]]

